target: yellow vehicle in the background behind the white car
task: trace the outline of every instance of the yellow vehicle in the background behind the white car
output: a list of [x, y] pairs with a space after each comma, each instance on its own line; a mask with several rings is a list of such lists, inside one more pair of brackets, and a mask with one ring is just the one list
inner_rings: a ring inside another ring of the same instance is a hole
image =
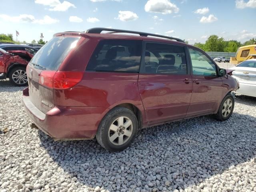
[[249, 59], [256, 59], [256, 44], [242, 46], [238, 48], [236, 52], [236, 57], [231, 57], [230, 63], [237, 65], [240, 62]]

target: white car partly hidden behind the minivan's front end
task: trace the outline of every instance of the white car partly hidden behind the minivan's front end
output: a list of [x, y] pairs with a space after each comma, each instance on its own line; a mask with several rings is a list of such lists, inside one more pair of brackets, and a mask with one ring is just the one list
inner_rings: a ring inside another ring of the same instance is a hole
[[240, 84], [235, 93], [256, 97], [256, 59], [243, 61], [229, 70], [234, 70], [231, 76]]

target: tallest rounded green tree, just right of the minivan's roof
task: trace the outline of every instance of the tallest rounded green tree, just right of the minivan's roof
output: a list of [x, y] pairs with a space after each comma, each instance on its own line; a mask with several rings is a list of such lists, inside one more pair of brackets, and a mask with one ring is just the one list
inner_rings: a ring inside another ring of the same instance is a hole
[[225, 41], [217, 35], [211, 35], [205, 42], [205, 51], [223, 52]]

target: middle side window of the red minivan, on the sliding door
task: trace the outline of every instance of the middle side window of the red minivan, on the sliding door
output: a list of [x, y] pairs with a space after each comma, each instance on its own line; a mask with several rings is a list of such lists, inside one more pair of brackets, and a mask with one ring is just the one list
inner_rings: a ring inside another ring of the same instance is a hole
[[186, 55], [183, 46], [146, 43], [142, 73], [187, 74]]

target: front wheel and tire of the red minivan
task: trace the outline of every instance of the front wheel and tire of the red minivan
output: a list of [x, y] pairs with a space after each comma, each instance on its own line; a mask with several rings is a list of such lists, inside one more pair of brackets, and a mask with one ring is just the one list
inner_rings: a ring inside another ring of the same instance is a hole
[[228, 93], [222, 100], [216, 118], [220, 121], [226, 121], [233, 113], [235, 100], [232, 94]]

